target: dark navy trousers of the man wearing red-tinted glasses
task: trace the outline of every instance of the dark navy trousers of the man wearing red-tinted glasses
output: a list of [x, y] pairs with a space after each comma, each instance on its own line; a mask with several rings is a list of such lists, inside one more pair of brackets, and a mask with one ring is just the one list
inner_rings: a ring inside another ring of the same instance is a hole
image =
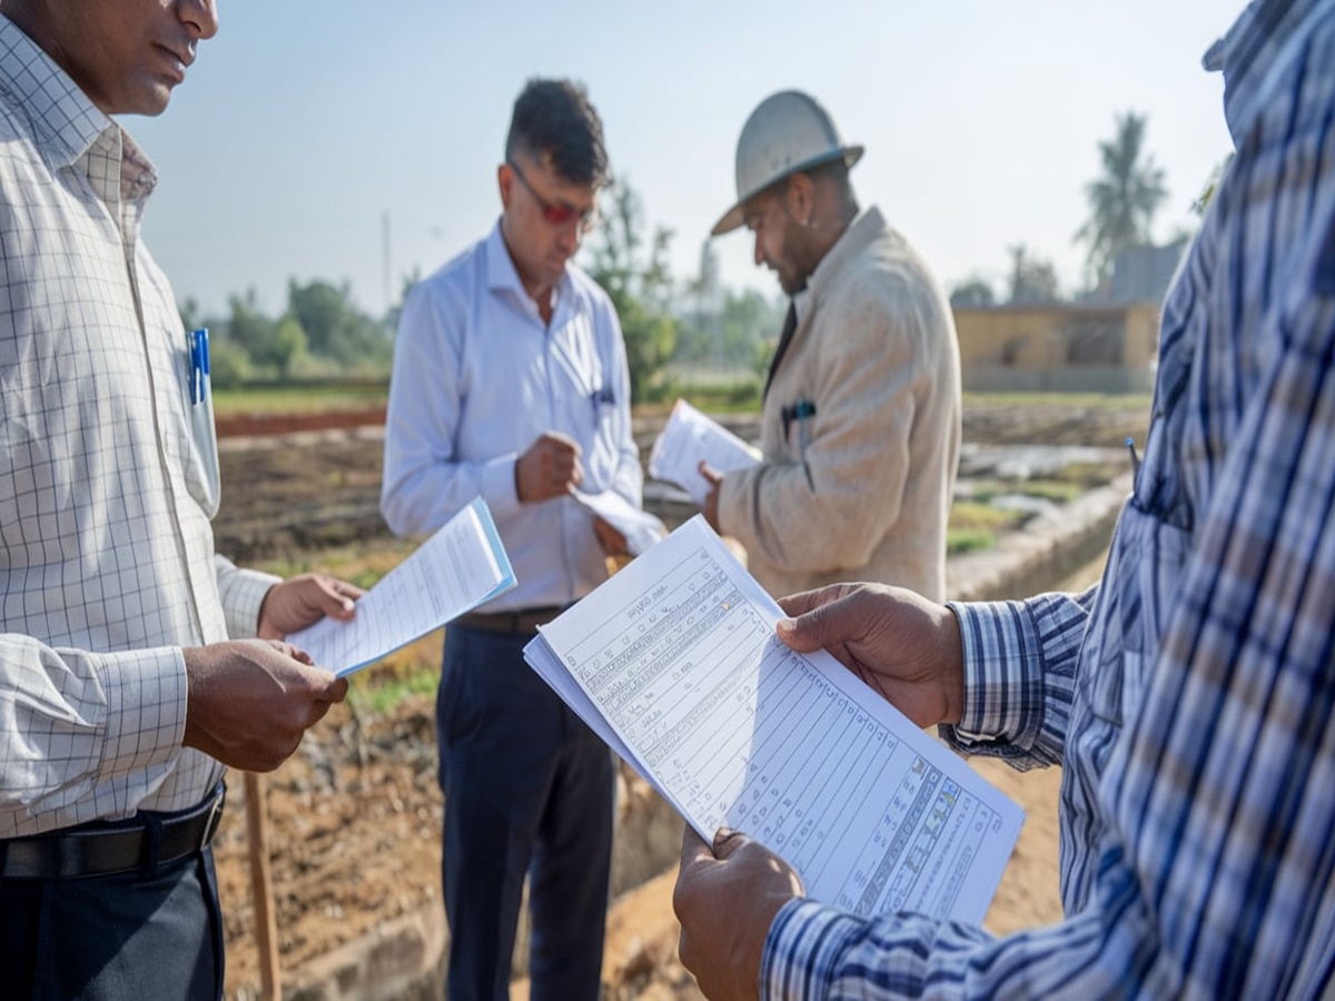
[[598, 997], [611, 751], [525, 663], [530, 638], [446, 630], [437, 723], [451, 1001], [510, 996], [526, 873], [530, 998]]

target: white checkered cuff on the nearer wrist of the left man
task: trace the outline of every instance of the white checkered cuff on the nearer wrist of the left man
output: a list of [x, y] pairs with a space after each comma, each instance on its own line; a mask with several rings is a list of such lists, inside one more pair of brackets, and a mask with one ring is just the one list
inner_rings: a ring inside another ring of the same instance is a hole
[[186, 739], [190, 685], [179, 647], [89, 655], [107, 697], [100, 779], [171, 761]]

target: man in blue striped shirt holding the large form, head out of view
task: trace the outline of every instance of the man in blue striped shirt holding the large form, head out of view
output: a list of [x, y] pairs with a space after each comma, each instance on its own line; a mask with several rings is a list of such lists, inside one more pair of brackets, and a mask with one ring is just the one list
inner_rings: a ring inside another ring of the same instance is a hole
[[709, 997], [1335, 989], [1335, 0], [1256, 0], [1207, 65], [1236, 156], [1164, 304], [1103, 583], [840, 585], [780, 623], [960, 750], [1063, 766], [1065, 920], [862, 920], [745, 836], [688, 831], [674, 904]]

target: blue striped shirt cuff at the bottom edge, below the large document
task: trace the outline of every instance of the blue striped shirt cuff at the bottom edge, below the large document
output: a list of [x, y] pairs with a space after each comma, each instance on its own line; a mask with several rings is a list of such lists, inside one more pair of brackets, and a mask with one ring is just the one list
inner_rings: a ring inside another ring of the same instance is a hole
[[760, 961], [764, 998], [824, 998], [848, 946], [861, 933], [850, 914], [792, 900], [774, 916]]

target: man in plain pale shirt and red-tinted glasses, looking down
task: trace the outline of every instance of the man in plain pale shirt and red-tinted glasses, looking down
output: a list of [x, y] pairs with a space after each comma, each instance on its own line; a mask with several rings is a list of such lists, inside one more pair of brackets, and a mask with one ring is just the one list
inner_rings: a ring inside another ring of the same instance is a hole
[[606, 171], [583, 89], [530, 81], [498, 170], [501, 220], [411, 291], [399, 323], [380, 510], [395, 533], [425, 534], [481, 494], [518, 581], [445, 638], [451, 998], [509, 997], [526, 874], [530, 997], [598, 997], [611, 757], [529, 669], [523, 646], [625, 550], [570, 492], [614, 491], [639, 507], [621, 326], [570, 263]]

